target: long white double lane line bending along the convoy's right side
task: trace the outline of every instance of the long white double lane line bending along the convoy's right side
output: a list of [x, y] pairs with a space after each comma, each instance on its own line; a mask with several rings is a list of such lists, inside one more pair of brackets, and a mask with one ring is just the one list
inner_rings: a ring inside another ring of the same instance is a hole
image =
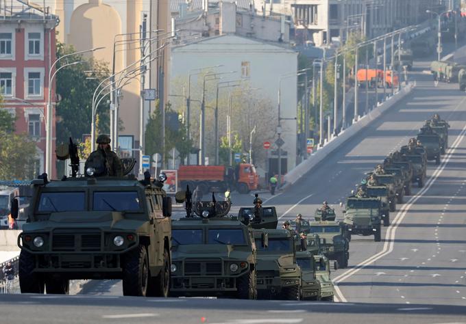
[[[461, 100], [460, 104], [462, 104], [465, 99], [466, 98], [463, 98], [463, 100]], [[395, 239], [395, 234], [396, 234], [396, 230], [397, 230], [398, 226], [401, 224], [402, 220], [404, 219], [404, 217], [408, 213], [411, 206], [413, 206], [413, 204], [417, 200], [419, 200], [419, 198], [421, 198], [424, 195], [424, 193], [426, 193], [426, 191], [428, 191], [430, 189], [430, 187], [432, 187], [435, 180], [437, 180], [437, 178], [439, 178], [441, 172], [443, 172], [443, 170], [447, 166], [447, 163], [449, 163], [450, 159], [452, 158], [452, 155], [453, 155], [454, 151], [456, 150], [456, 148], [458, 148], [459, 144], [461, 144], [461, 141], [463, 141], [463, 139], [465, 137], [465, 134], [466, 134], [466, 125], [463, 127], [463, 129], [462, 129], [461, 133], [458, 135], [458, 137], [456, 137], [456, 139], [455, 139], [454, 143], [452, 144], [452, 146], [448, 149], [446, 159], [443, 159], [443, 162], [441, 163], [441, 165], [439, 165], [439, 167], [437, 167], [437, 169], [434, 170], [432, 176], [430, 177], [430, 179], [426, 183], [426, 186], [424, 188], [422, 188], [421, 191], [419, 191], [419, 193], [417, 193], [416, 195], [411, 197], [410, 200], [408, 200], [408, 202], [406, 202], [406, 204], [404, 204], [402, 206], [402, 208], [400, 209], [400, 211], [397, 213], [395, 219], [393, 219], [392, 225], [389, 226], [389, 228], [387, 230], [387, 233], [385, 234], [385, 242], [384, 242], [384, 246], [382, 248], [382, 251], [378, 252], [377, 254], [374, 254], [373, 256], [367, 258], [363, 262], [360, 262], [358, 265], [356, 265], [356, 267], [354, 267], [352, 269], [349, 269], [348, 271], [345, 271], [341, 275], [334, 278], [335, 286], [337, 286], [337, 284], [339, 282], [342, 282], [343, 280], [346, 280], [347, 278], [351, 277], [355, 273], [358, 273], [360, 271], [360, 269], [363, 269], [363, 268], [367, 267], [367, 265], [370, 265], [371, 263], [375, 262], [376, 260], [379, 260], [380, 258], [382, 258], [384, 256], [387, 256], [387, 254], [390, 254], [393, 251], [393, 247], [395, 245], [394, 239]], [[347, 301], [347, 299], [345, 299], [345, 297], [343, 296], [343, 293], [341, 293], [340, 289], [336, 290], [335, 293], [338, 294], [338, 299], [340, 299], [343, 302]]]

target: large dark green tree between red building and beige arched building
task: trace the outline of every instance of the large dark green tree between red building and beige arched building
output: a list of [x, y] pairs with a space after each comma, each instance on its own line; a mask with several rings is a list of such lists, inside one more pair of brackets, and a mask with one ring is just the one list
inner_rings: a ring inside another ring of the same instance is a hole
[[[73, 53], [73, 51], [72, 46], [66, 46], [58, 42], [57, 57]], [[62, 61], [60, 61], [60, 64], [66, 64], [66, 59]], [[84, 62], [67, 66], [60, 70], [56, 76], [56, 92], [61, 96], [61, 100], [56, 106], [58, 143], [66, 143], [69, 137], [72, 137], [75, 141], [81, 141], [83, 134], [90, 133], [93, 93], [97, 85], [110, 74], [107, 65], [103, 62], [97, 62], [82, 55], [73, 55], [68, 59], [68, 62], [75, 61]], [[60, 65], [57, 68], [60, 68]], [[89, 74], [84, 72], [86, 70], [95, 72]], [[88, 77], [91, 77], [91, 79], [88, 79]], [[110, 118], [108, 111], [107, 100], [103, 99], [99, 107], [97, 107], [101, 132], [103, 133], [109, 133]]]

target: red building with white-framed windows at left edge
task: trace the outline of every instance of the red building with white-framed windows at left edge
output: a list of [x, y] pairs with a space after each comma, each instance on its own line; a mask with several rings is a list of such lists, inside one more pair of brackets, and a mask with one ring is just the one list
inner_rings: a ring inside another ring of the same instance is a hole
[[[35, 175], [45, 172], [45, 116], [51, 87], [55, 105], [55, 83], [49, 85], [51, 64], [56, 59], [56, 27], [59, 19], [47, 8], [5, 1], [0, 5], [0, 92], [5, 109], [16, 116], [16, 133], [27, 133], [37, 144]], [[52, 70], [53, 72], [54, 70]], [[52, 111], [52, 152], [55, 152], [56, 120]], [[56, 176], [52, 154], [52, 177]]]

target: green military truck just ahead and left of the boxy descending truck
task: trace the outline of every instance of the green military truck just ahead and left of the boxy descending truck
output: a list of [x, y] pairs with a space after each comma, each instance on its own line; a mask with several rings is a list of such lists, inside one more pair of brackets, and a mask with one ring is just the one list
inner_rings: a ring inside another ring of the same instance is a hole
[[336, 268], [346, 268], [349, 259], [349, 241], [344, 230], [346, 226], [340, 221], [310, 222], [310, 233], [318, 234], [321, 254], [330, 260], [336, 260]]

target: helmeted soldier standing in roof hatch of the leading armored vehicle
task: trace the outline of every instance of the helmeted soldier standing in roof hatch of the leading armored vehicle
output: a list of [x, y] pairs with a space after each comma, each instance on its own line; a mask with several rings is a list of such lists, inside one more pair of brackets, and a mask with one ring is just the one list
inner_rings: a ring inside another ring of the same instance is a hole
[[88, 167], [95, 169], [94, 176], [123, 176], [121, 161], [115, 152], [110, 150], [110, 137], [101, 134], [97, 137], [96, 143], [99, 144], [97, 150], [90, 153], [84, 170], [87, 172]]

